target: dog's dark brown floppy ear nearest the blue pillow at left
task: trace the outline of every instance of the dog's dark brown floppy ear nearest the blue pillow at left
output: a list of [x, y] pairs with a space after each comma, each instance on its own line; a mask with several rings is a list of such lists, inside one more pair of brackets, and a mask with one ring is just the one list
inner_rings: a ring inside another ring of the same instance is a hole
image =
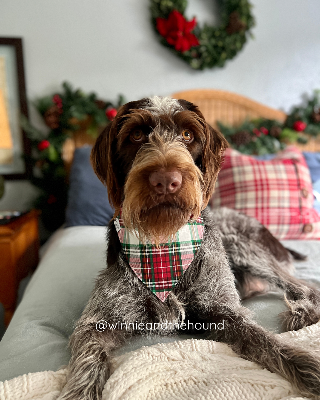
[[[116, 124], [110, 123], [98, 136], [91, 151], [91, 164], [101, 182], [108, 188], [108, 198], [117, 210], [121, 207], [121, 190], [114, 174], [112, 144], [116, 139]], [[115, 150], [115, 149], [114, 149]]]

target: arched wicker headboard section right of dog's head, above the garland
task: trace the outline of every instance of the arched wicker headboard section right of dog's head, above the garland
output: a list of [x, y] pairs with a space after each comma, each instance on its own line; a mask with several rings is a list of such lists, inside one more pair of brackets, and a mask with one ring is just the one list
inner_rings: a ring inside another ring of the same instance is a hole
[[186, 90], [174, 93], [172, 97], [196, 104], [204, 115], [205, 120], [214, 128], [217, 128], [217, 121], [229, 126], [237, 126], [246, 119], [251, 120], [262, 117], [284, 122], [287, 117], [282, 111], [224, 90]]

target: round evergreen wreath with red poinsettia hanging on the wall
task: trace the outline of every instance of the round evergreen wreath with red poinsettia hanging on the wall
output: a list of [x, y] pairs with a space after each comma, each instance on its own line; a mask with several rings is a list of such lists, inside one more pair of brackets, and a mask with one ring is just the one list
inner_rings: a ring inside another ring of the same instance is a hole
[[152, 23], [160, 42], [196, 70], [223, 67], [246, 43], [254, 26], [247, 0], [217, 0], [221, 25], [202, 28], [196, 18], [187, 21], [187, 0], [151, 0]]

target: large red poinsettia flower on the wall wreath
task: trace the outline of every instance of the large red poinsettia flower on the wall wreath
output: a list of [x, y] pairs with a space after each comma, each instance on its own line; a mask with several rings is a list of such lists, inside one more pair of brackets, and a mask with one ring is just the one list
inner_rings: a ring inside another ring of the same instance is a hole
[[185, 52], [192, 46], [198, 46], [198, 38], [190, 33], [196, 26], [196, 18], [187, 21], [177, 10], [170, 12], [168, 19], [156, 18], [157, 30], [177, 51]]

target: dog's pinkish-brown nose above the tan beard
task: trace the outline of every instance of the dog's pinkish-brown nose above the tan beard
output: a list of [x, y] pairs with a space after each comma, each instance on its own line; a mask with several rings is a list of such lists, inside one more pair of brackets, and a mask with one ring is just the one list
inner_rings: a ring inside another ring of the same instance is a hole
[[150, 184], [158, 194], [175, 193], [181, 186], [182, 176], [179, 171], [156, 171], [150, 174]]

